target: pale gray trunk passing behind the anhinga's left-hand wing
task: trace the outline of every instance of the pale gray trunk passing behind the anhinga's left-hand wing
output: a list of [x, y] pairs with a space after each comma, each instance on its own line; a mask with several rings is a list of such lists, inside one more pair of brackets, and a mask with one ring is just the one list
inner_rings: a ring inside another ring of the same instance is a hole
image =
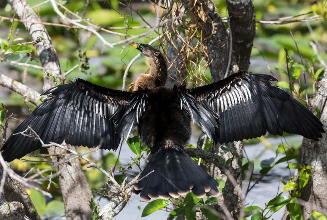
[[[8, 2], [21, 19], [41, 22], [40, 18], [25, 0], [9, 0]], [[24, 25], [34, 42], [39, 42], [40, 38], [42, 40], [42, 42], [36, 43], [36, 49], [43, 68], [50, 73], [50, 77], [47, 76], [46, 72], [43, 73], [43, 90], [48, 89], [55, 85], [54, 79], [58, 81], [64, 78], [60, 70], [57, 53], [43, 24], [25, 22]], [[75, 150], [74, 147], [70, 148]], [[63, 155], [62, 158], [52, 157], [54, 162], [60, 162], [65, 160], [67, 156], [69, 157], [65, 150], [51, 147], [49, 153], [52, 154], [54, 152]], [[68, 164], [60, 165], [58, 172], [60, 172], [59, 183], [67, 219], [90, 219], [92, 210], [89, 207], [89, 200], [93, 196], [78, 159], [72, 160]]]

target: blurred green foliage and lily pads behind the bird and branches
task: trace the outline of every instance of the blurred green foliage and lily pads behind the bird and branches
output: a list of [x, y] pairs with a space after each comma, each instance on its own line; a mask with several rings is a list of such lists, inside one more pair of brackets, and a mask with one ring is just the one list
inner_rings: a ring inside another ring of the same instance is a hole
[[[40, 15], [41, 20], [43, 22], [50, 23], [60, 23], [59, 16], [53, 11], [53, 8], [49, 2], [45, 2], [41, 4], [42, 0], [29, 0], [28, 3], [30, 6], [35, 7], [35, 11]], [[227, 17], [228, 12], [226, 9], [225, 1], [214, 1], [217, 7], [218, 12], [222, 17]], [[83, 14], [84, 10], [84, 1], [78, 0], [69, 0], [69, 1], [60, 1], [66, 8], [77, 13], [78, 15]], [[41, 4], [41, 5], [40, 5]], [[125, 4], [125, 3], [124, 3]], [[322, 18], [326, 19], [326, 10], [324, 5], [319, 5], [317, 1], [300, 1], [300, 0], [287, 0], [287, 1], [267, 1], [267, 0], [254, 0], [253, 1], [256, 19], [257, 20], [272, 20], [285, 16], [294, 16], [302, 13], [306, 13], [309, 11], [314, 11], [315, 13], [310, 15], [305, 15], [300, 18], [305, 18], [308, 16], [313, 16], [315, 14], [321, 15]], [[142, 18], [135, 12], [131, 11], [130, 7], [137, 10]], [[62, 10], [63, 11], [63, 10]], [[0, 1], [0, 15], [7, 18], [12, 18], [14, 11], [11, 7], [5, 2]], [[65, 13], [66, 16], [70, 16]], [[155, 23], [156, 11], [153, 4], [147, 1], [134, 1], [132, 5], [123, 6], [119, 4], [117, 0], [109, 0], [109, 1], [90, 1], [86, 9], [85, 18], [90, 19], [90, 22], [93, 24], [97, 24], [107, 29], [112, 29], [113, 31], [117, 31], [120, 33], [126, 33], [127, 35], [138, 35], [146, 32], [149, 28], [140, 28], [140, 29], [128, 29], [128, 27], [135, 26], [144, 26], [146, 23], [143, 21], [145, 19], [149, 24]], [[15, 18], [18, 18], [16, 16]], [[294, 18], [297, 19], [297, 18]], [[0, 22], [0, 38], [1, 45], [8, 44], [8, 36], [11, 25], [13, 24], [12, 34], [10, 35], [9, 41], [13, 39], [17, 39], [17, 43], [28, 42], [31, 41], [29, 34], [26, 32], [24, 25], [21, 22], [11, 22], [10, 20], [2, 19]], [[134, 50], [134, 48], [126, 47], [123, 49], [122, 45], [115, 46], [114, 48], [110, 48], [108, 46], [104, 46], [103, 43], [94, 35], [90, 33], [74, 28], [65, 28], [58, 27], [52, 25], [45, 26], [51, 39], [52, 43], [58, 53], [60, 59], [60, 65], [62, 71], [68, 71], [76, 64], [82, 63], [79, 68], [70, 73], [67, 76], [67, 80], [73, 80], [75, 78], [82, 78], [85, 80], [89, 80], [97, 85], [107, 86], [110, 88], [121, 89], [122, 87], [122, 76], [126, 69], [126, 65], [129, 61], [138, 53], [138, 51]], [[127, 29], [116, 30], [114, 27], [126, 27]], [[309, 29], [312, 29], [310, 33]], [[254, 39], [254, 46], [251, 54], [251, 65], [250, 70], [253, 73], [267, 73], [273, 74], [277, 79], [281, 81], [285, 81], [287, 87], [288, 77], [283, 73], [282, 70], [286, 70], [285, 64], [285, 51], [284, 48], [288, 49], [288, 53], [290, 58], [294, 60], [294, 63], [300, 61], [300, 57], [297, 54], [296, 47], [294, 41], [290, 37], [290, 30], [292, 31], [295, 40], [298, 43], [300, 52], [302, 57], [310, 64], [313, 65], [313, 72], [316, 73], [321, 65], [317, 60], [317, 57], [314, 56], [315, 52], [310, 46], [309, 42], [318, 42], [321, 45], [320, 56], [326, 61], [326, 55], [324, 51], [326, 51], [327, 44], [327, 22], [326, 20], [314, 21], [314, 22], [300, 22], [300, 23], [291, 23], [284, 25], [276, 25], [276, 24], [256, 24], [256, 37]], [[117, 39], [113, 34], [100, 32], [101, 35], [109, 42], [117, 42]], [[158, 36], [155, 32], [152, 32], [147, 37], [142, 37], [135, 39], [136, 42], [147, 43], [154, 37]], [[22, 38], [22, 39], [21, 39]], [[158, 45], [156, 42], [154, 45]], [[31, 45], [30, 45], [31, 46]], [[32, 47], [32, 46], [31, 46]], [[2, 56], [4, 58], [6, 55]], [[35, 60], [28, 61], [30, 64], [41, 65], [39, 61], [39, 57], [36, 54], [35, 48], [32, 51], [32, 56], [35, 57]], [[29, 57], [26, 54], [13, 54], [8, 60], [19, 60], [19, 62], [24, 63]], [[304, 61], [304, 64], [306, 64]], [[269, 66], [269, 67], [268, 67]], [[310, 66], [309, 64], [307, 66]], [[269, 70], [270, 68], [270, 70]], [[276, 69], [278, 68], [278, 69]], [[3, 61], [0, 63], [1, 74], [4, 74], [8, 77], [11, 77], [15, 80], [24, 82], [27, 86], [32, 87], [38, 92], [42, 92], [42, 83], [43, 83], [43, 73], [41, 70], [36, 70], [34, 68], [26, 68], [20, 66], [10, 65], [8, 62]], [[127, 85], [134, 80], [138, 74], [145, 72], [148, 69], [148, 64], [145, 61], [144, 57], [141, 57], [136, 60], [136, 62], [132, 65], [132, 68], [129, 70]], [[290, 72], [293, 77], [299, 76], [300, 70], [295, 67], [290, 67]], [[207, 79], [210, 80], [210, 72], [207, 69], [203, 74], [206, 75]], [[307, 81], [308, 81], [308, 94], [313, 93], [313, 77], [306, 73]], [[304, 90], [303, 88], [303, 75], [301, 74], [299, 78], [294, 80], [294, 87], [296, 93], [300, 94], [300, 98], [304, 98]], [[299, 91], [300, 89], [300, 91]], [[7, 88], [3, 88], [0, 86], [0, 103], [3, 103], [9, 110], [9, 114], [13, 113], [17, 118], [25, 118], [26, 115], [30, 113], [28, 107], [33, 109], [35, 106], [32, 104], [24, 103], [23, 98], [10, 91]], [[9, 121], [9, 129], [8, 134], [12, 133], [12, 129], [14, 129], [18, 125], [18, 121], [10, 120]], [[193, 143], [195, 143], [198, 131], [195, 131]], [[278, 142], [279, 138], [275, 138]], [[294, 139], [294, 138], [293, 138]], [[293, 140], [292, 139], [292, 140]], [[195, 141], [194, 141], [195, 140]], [[291, 145], [294, 145], [295, 148], [299, 148], [301, 138], [295, 138], [294, 141], [290, 141]], [[258, 143], [260, 140], [254, 139], [250, 141], [246, 141], [246, 144], [254, 144]], [[251, 145], [252, 146], [252, 145]], [[263, 155], [267, 151], [267, 144], [264, 145]], [[268, 146], [268, 151], [271, 149], [274, 151], [278, 146], [278, 143], [273, 143]], [[83, 151], [85, 149], [78, 149]], [[256, 162], [256, 166], [260, 168], [260, 160], [259, 158], [265, 158], [262, 155], [256, 155], [256, 148], [249, 148], [248, 152], [250, 155], [253, 155], [252, 158], [258, 157], [258, 161]], [[122, 153], [129, 155], [130, 151], [128, 148], [124, 148]], [[41, 152], [42, 153], [42, 152]], [[117, 153], [112, 152], [101, 152], [100, 158], [101, 160], [97, 160], [100, 165], [104, 168], [108, 168], [113, 165], [116, 161]], [[28, 158], [28, 157], [26, 157]], [[35, 158], [33, 158], [35, 160]], [[122, 162], [122, 159], [120, 159]], [[129, 157], [125, 157], [122, 165], [126, 165], [129, 161]], [[83, 163], [83, 162], [82, 162]], [[45, 168], [49, 167], [51, 164], [47, 163], [35, 163], [35, 162], [21, 162], [15, 161], [12, 163], [13, 167], [17, 172], [25, 173], [31, 167], [36, 166], [37, 168]], [[83, 164], [85, 165], [85, 164]], [[258, 169], [259, 169], [258, 168]], [[137, 170], [136, 170], [137, 171]], [[101, 175], [100, 172], [94, 169], [86, 169], [85, 172], [88, 178], [88, 181], [91, 185], [91, 188], [94, 190], [99, 190], [104, 186], [106, 179]], [[58, 182], [56, 178], [53, 179], [54, 182]], [[46, 188], [48, 182], [45, 181], [42, 185], [43, 188]], [[273, 190], [272, 190], [273, 191]], [[36, 204], [37, 211], [43, 216], [60, 216], [63, 214], [63, 204], [60, 202], [62, 200], [60, 196], [60, 191], [56, 184], [51, 185], [50, 191], [55, 200], [46, 201], [46, 199], [40, 195], [40, 193], [29, 190], [28, 191], [34, 201], [37, 201]], [[275, 193], [275, 192], [274, 192]], [[251, 201], [249, 201], [251, 202]], [[144, 204], [140, 203], [142, 207]], [[134, 209], [134, 212], [140, 212], [137, 209], [137, 205], [127, 207], [126, 209]], [[57, 210], [58, 209], [58, 210]], [[142, 210], [142, 209], [141, 209]], [[159, 219], [165, 219], [164, 216], [167, 216], [167, 212], [159, 213], [156, 212]], [[152, 216], [153, 218], [154, 216]], [[140, 216], [135, 215], [135, 217], [131, 216], [129, 219], [137, 219]], [[118, 215], [118, 219], [119, 215]], [[121, 217], [123, 219], [123, 217]], [[151, 219], [151, 216], [150, 218]], [[278, 219], [278, 217], [277, 217]]]

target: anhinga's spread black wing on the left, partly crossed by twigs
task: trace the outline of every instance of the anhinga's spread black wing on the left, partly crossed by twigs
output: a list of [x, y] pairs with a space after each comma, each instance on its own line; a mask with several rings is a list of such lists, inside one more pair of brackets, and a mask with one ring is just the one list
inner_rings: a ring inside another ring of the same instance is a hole
[[[132, 93], [96, 86], [88, 81], [75, 82], [50, 88], [43, 102], [13, 132], [17, 134], [30, 126], [43, 140], [89, 148], [116, 150], [121, 134], [115, 130], [111, 117], [117, 108], [127, 108]], [[6, 161], [21, 158], [41, 143], [35, 137], [11, 135], [2, 147]]]

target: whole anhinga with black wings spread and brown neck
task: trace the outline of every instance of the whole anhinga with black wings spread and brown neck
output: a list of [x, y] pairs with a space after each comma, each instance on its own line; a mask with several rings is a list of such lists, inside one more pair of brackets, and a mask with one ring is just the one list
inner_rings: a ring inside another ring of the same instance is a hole
[[[313, 140], [322, 137], [318, 118], [275, 86], [272, 76], [240, 71], [206, 86], [168, 88], [162, 53], [147, 44], [130, 45], [150, 64], [149, 74], [137, 78], [133, 92], [82, 79], [50, 88], [43, 92], [42, 104], [13, 133], [30, 126], [44, 143], [65, 141], [89, 148], [101, 144], [102, 149], [116, 150], [138, 126], [143, 144], [152, 153], [139, 177], [143, 179], [134, 185], [134, 192], [144, 200], [178, 197], [190, 190], [197, 197], [218, 195], [217, 182], [183, 150], [191, 137], [191, 120], [213, 144], [260, 137], [267, 131]], [[12, 161], [41, 147], [34, 137], [11, 135], [2, 155]]]

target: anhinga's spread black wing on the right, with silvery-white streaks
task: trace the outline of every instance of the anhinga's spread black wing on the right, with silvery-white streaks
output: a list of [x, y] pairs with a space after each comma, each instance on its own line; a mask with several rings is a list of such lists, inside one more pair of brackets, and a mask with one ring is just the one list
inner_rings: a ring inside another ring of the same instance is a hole
[[324, 132], [319, 119], [275, 86], [276, 82], [270, 75], [240, 71], [188, 93], [219, 114], [216, 137], [220, 143], [260, 137], [267, 131], [273, 135], [282, 135], [284, 131], [318, 140]]

